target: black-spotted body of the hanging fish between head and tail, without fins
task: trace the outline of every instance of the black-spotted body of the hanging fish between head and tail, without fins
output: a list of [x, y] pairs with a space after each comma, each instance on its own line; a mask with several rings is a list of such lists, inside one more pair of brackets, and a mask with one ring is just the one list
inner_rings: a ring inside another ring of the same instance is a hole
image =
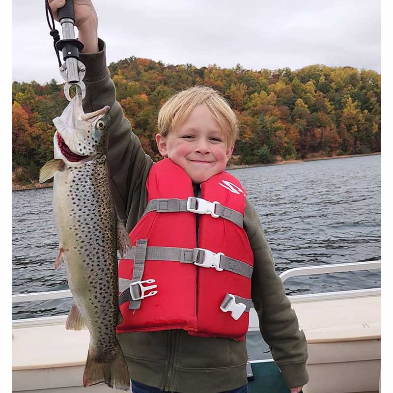
[[53, 195], [57, 236], [74, 303], [97, 351], [110, 356], [119, 310], [116, 215], [106, 156], [57, 172]]

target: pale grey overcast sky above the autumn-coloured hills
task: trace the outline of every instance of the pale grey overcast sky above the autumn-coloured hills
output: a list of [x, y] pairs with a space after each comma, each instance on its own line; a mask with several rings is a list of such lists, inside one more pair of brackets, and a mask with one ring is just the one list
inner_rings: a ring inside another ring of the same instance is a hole
[[[93, 4], [108, 64], [137, 56], [197, 67], [294, 70], [319, 63], [381, 72], [380, 0]], [[51, 78], [62, 82], [44, 0], [13, 0], [12, 81], [44, 84]]]

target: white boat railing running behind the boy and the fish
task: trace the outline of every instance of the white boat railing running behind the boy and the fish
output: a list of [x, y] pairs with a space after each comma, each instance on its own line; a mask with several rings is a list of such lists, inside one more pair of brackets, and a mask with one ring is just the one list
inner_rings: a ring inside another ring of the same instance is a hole
[[[365, 262], [354, 262], [354, 263], [340, 263], [340, 264], [326, 264], [316, 265], [308, 267], [297, 267], [288, 269], [280, 274], [281, 280], [284, 282], [290, 277], [294, 276], [309, 276], [319, 275], [325, 273], [339, 273], [339, 272], [352, 272], [358, 270], [372, 270], [381, 269], [381, 261], [365, 261]], [[332, 300], [341, 298], [351, 298], [359, 296], [377, 296], [381, 294], [381, 288], [371, 289], [357, 289], [357, 290], [343, 290], [338, 292], [325, 292], [325, 293], [311, 293], [305, 295], [289, 295], [291, 303], [306, 302], [310, 300]], [[72, 293], [69, 289], [60, 291], [49, 291], [49, 292], [36, 292], [12, 295], [12, 303], [30, 302], [30, 301], [41, 301], [41, 300], [52, 300], [70, 298]], [[258, 329], [257, 315], [255, 310], [250, 312], [250, 330]], [[58, 324], [65, 322], [67, 315], [56, 315], [50, 317], [38, 317], [38, 318], [26, 318], [26, 319], [13, 319], [12, 327], [29, 327], [37, 325], [48, 325]]]

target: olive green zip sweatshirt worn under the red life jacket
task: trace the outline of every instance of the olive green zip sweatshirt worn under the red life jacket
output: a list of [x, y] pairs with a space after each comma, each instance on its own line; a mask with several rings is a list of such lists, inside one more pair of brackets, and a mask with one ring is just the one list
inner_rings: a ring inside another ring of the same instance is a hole
[[[117, 215], [130, 232], [145, 210], [146, 180], [154, 163], [116, 101], [105, 43], [99, 39], [98, 53], [80, 56], [86, 66], [84, 111], [111, 107], [107, 157]], [[244, 229], [254, 254], [251, 297], [260, 332], [288, 387], [304, 385], [308, 382], [306, 337], [275, 272], [259, 217], [247, 199]], [[130, 378], [140, 383], [180, 393], [218, 393], [247, 384], [246, 340], [193, 337], [183, 330], [121, 333], [117, 338]]]

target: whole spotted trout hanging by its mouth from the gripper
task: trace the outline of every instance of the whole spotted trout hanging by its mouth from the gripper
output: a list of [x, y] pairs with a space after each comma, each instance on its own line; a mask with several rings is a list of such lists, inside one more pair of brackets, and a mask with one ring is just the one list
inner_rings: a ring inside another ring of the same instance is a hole
[[59, 241], [55, 269], [65, 262], [74, 304], [66, 329], [88, 329], [90, 344], [84, 387], [105, 382], [129, 391], [130, 378], [116, 339], [117, 250], [131, 248], [115, 213], [106, 159], [110, 107], [84, 113], [77, 94], [53, 120], [55, 159], [40, 170], [40, 182], [54, 176], [53, 212]]

